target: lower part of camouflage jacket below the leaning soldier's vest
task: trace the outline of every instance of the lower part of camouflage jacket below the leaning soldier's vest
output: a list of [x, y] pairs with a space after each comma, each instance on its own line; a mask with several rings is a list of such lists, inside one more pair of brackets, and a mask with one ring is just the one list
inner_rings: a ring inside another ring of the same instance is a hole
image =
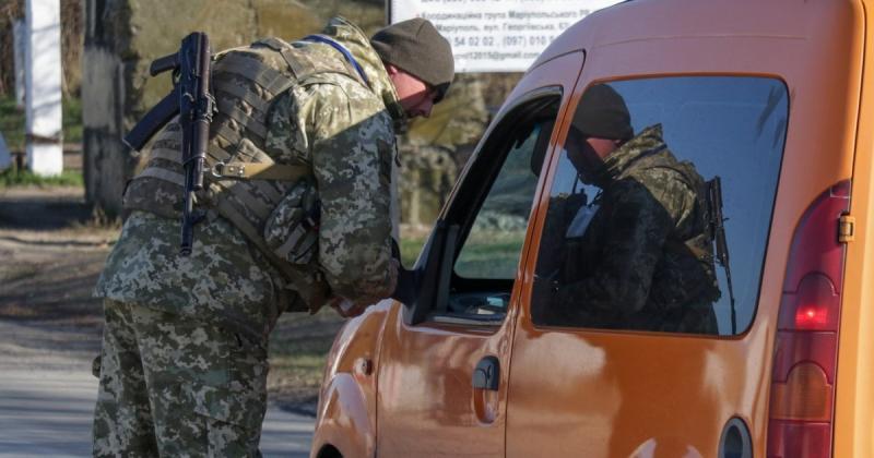
[[281, 312], [275, 301], [279, 274], [271, 275], [260, 252], [215, 215], [194, 226], [190, 256], [179, 256], [178, 238], [178, 220], [132, 213], [95, 293], [267, 339]]

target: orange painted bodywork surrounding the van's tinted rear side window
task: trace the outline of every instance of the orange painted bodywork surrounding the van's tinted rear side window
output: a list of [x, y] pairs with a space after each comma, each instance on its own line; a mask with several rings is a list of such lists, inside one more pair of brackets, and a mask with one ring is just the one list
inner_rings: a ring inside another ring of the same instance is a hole
[[[852, 173], [863, 32], [849, 2], [636, 1], [590, 16], [547, 50], [587, 51], [569, 112], [597, 81], [719, 74], [783, 81], [790, 117], [758, 311], [747, 333], [706, 338], [538, 328], [527, 282], [513, 341], [507, 456], [717, 456], [734, 417], [749, 425], [755, 455], [765, 455], [789, 244], [807, 205]], [[540, 205], [547, 202], [544, 193]], [[545, 210], [538, 214], [535, 233]], [[532, 241], [536, 253], [538, 238]], [[532, 272], [536, 256], [527, 262]]]

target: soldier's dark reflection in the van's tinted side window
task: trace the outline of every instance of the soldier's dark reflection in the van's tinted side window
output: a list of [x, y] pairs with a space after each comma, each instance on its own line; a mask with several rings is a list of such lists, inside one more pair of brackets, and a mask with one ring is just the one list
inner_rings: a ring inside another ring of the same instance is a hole
[[580, 100], [568, 158], [601, 189], [568, 239], [551, 321], [586, 327], [716, 334], [719, 298], [704, 180], [660, 124], [633, 136], [625, 101], [597, 85]]

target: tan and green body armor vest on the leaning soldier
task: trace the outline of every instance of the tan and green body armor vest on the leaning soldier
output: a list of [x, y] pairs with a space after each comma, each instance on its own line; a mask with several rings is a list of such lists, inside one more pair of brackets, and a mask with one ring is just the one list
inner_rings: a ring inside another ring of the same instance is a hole
[[[267, 116], [273, 100], [290, 88], [324, 73], [361, 77], [342, 59], [319, 59], [309, 46], [295, 47], [277, 38], [231, 49], [215, 58], [212, 73], [216, 112], [210, 124], [204, 164], [204, 190], [196, 205], [211, 208], [228, 219], [293, 284], [300, 300], [288, 300], [286, 310], [317, 310], [330, 289], [314, 260], [288, 262], [264, 238], [264, 228], [280, 202], [288, 195], [312, 193], [312, 172], [300, 162], [277, 165], [264, 152]], [[181, 131], [172, 120], [152, 143], [145, 169], [129, 183], [123, 196], [128, 209], [150, 212], [166, 218], [181, 215], [185, 176], [181, 164]], [[305, 200], [300, 200], [304, 204]], [[312, 198], [307, 198], [312, 202]], [[315, 243], [317, 233], [304, 243]], [[283, 250], [288, 249], [285, 243]]]

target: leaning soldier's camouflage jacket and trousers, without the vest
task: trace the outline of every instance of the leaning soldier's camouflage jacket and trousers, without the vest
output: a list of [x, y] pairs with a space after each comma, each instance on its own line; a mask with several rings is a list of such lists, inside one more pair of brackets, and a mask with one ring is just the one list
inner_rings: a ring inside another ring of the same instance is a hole
[[[389, 297], [397, 281], [391, 177], [403, 110], [357, 27], [335, 19], [323, 34], [352, 51], [370, 86], [324, 74], [292, 87], [270, 108], [264, 145], [277, 162], [311, 166], [321, 201], [318, 264], [333, 292], [358, 308]], [[305, 46], [343, 59], [329, 45]], [[166, 456], [247, 456], [257, 447], [260, 350], [292, 308], [295, 286], [212, 210], [193, 239], [192, 254], [179, 257], [178, 217], [137, 210], [107, 258], [95, 287], [107, 299], [95, 456], [154, 456], [155, 447]]]

